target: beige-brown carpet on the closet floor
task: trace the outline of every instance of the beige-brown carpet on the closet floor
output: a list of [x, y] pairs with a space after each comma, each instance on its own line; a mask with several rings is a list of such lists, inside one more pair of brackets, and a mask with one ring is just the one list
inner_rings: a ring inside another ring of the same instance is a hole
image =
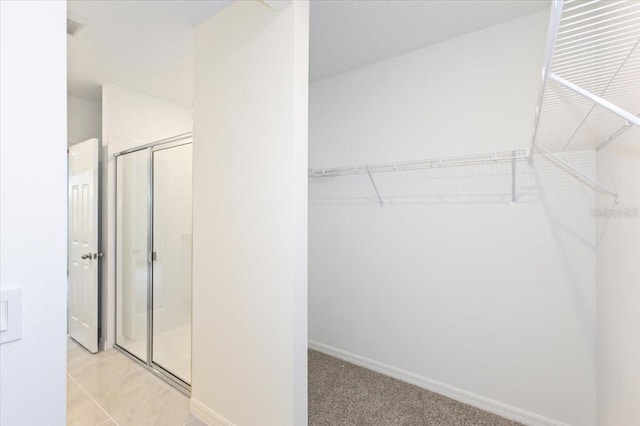
[[309, 426], [514, 426], [495, 414], [309, 351]]

